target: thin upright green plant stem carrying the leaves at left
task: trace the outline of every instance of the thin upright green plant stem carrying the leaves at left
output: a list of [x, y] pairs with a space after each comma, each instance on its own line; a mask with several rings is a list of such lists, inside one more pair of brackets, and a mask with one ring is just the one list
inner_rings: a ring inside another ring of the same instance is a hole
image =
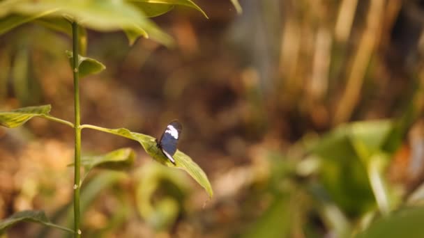
[[79, 230], [79, 191], [80, 191], [80, 163], [81, 163], [81, 118], [79, 113], [79, 72], [78, 72], [78, 24], [72, 23], [73, 35], [73, 74], [74, 74], [74, 104], [75, 104], [75, 177], [74, 177], [74, 237], [81, 237], [81, 230]]

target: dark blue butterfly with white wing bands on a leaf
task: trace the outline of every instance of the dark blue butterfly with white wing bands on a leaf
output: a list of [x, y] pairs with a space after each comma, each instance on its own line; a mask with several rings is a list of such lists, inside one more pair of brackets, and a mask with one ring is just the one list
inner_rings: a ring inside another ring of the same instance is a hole
[[162, 151], [162, 153], [175, 165], [175, 159], [172, 157], [176, 152], [176, 145], [181, 136], [181, 130], [183, 126], [178, 120], [169, 122], [165, 132], [160, 136], [160, 140], [156, 139], [156, 145]]

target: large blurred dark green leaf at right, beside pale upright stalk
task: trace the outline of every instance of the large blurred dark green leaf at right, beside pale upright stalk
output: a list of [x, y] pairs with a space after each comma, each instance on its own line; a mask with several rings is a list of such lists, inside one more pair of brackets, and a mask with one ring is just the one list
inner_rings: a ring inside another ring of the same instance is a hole
[[367, 170], [349, 138], [349, 127], [338, 127], [311, 148], [319, 157], [320, 182], [336, 205], [350, 216], [360, 216], [374, 205]]

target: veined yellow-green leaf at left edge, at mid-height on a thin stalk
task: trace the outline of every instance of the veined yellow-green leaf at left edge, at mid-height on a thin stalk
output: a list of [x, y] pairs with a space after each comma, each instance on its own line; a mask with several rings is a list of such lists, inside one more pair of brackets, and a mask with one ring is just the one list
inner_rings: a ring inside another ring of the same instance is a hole
[[27, 106], [13, 111], [0, 112], [0, 125], [8, 128], [19, 127], [34, 116], [49, 116], [52, 106]]

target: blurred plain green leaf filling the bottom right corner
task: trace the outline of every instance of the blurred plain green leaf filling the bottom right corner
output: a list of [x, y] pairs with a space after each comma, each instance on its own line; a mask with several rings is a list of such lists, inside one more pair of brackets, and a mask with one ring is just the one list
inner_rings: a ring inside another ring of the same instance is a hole
[[424, 237], [424, 207], [407, 207], [374, 221], [357, 238]]

